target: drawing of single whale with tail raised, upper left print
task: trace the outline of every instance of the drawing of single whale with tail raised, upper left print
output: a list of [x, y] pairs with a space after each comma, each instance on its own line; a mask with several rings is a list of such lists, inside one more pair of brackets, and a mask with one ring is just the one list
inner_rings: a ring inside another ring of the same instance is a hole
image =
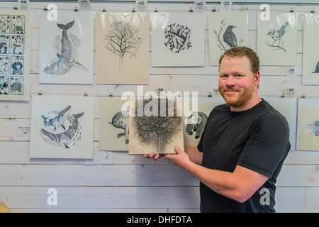
[[74, 67], [80, 70], [88, 71], [89, 69], [77, 62], [78, 53], [77, 48], [81, 45], [79, 38], [73, 34], [67, 34], [67, 30], [72, 28], [74, 20], [66, 25], [57, 23], [57, 27], [62, 29], [62, 38], [57, 35], [53, 48], [57, 49], [57, 56], [49, 66], [45, 68], [44, 72], [47, 74], [66, 74]]

